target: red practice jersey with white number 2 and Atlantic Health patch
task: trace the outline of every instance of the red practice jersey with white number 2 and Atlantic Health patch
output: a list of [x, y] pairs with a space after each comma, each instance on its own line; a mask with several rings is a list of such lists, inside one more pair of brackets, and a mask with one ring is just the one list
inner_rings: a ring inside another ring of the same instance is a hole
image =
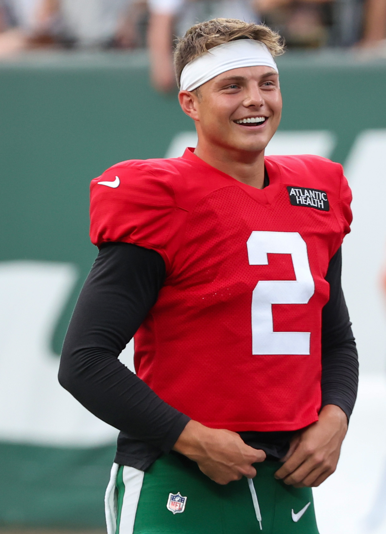
[[266, 158], [245, 185], [187, 149], [118, 163], [91, 183], [91, 240], [156, 250], [165, 284], [135, 334], [135, 368], [206, 426], [295, 430], [316, 421], [328, 263], [349, 232], [340, 164]]

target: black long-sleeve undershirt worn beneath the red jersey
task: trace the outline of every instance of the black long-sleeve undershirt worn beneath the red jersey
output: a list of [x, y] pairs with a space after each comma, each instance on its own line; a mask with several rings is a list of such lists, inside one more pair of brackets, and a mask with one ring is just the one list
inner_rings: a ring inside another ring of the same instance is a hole
[[[350, 417], [358, 360], [340, 283], [341, 253], [332, 258], [323, 309], [323, 405]], [[118, 356], [157, 300], [165, 264], [154, 250], [104, 245], [79, 295], [63, 345], [59, 381], [94, 415], [120, 430], [115, 461], [146, 469], [178, 439], [189, 417], [160, 399]], [[272, 458], [283, 456], [292, 433], [240, 433]]]

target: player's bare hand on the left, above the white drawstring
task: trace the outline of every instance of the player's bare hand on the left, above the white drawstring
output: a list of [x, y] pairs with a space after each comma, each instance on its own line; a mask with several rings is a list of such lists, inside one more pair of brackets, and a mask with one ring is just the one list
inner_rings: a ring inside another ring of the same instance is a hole
[[208, 428], [189, 421], [175, 442], [174, 451], [197, 462], [199, 469], [218, 484], [228, 484], [243, 476], [253, 478], [255, 462], [266, 459], [266, 453], [246, 445], [236, 432]]

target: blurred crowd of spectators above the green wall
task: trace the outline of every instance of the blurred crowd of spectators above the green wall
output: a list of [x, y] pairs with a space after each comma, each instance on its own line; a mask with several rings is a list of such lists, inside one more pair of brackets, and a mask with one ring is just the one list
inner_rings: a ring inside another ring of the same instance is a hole
[[175, 36], [215, 17], [264, 22], [288, 49], [355, 46], [386, 55], [386, 0], [0, 0], [0, 57], [148, 46], [152, 80], [167, 91]]

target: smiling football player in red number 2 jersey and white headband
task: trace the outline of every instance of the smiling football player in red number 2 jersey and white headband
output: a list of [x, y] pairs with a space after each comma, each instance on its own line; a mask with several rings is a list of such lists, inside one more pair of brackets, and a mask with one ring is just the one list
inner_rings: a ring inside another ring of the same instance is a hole
[[[336, 467], [357, 390], [351, 194], [340, 164], [264, 158], [281, 52], [254, 23], [190, 28], [175, 69], [197, 147], [92, 181], [99, 254], [59, 378], [120, 430], [109, 534], [318, 532], [311, 487]], [[118, 360], [133, 335], [136, 375]]]

